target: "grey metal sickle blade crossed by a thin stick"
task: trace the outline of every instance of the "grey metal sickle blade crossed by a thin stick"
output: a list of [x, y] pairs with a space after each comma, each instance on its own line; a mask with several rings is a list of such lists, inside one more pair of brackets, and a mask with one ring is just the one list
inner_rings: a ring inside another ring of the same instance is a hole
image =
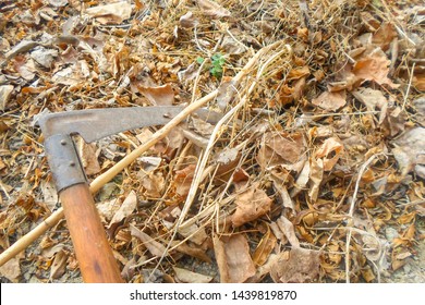
[[[183, 109], [180, 106], [153, 106], [76, 110], [45, 114], [38, 124], [45, 138], [57, 134], [78, 134], [90, 143], [123, 131], [165, 125]], [[195, 113], [210, 123], [222, 117], [207, 109], [198, 109]]]

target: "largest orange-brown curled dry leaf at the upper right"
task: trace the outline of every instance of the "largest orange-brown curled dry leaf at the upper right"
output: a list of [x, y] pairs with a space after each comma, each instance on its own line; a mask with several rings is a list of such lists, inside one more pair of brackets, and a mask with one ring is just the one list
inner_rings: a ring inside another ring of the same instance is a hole
[[388, 85], [397, 88], [399, 85], [388, 78], [389, 65], [391, 61], [380, 48], [375, 49], [369, 54], [361, 58], [353, 66], [353, 73], [359, 80], [373, 81], [379, 85]]

